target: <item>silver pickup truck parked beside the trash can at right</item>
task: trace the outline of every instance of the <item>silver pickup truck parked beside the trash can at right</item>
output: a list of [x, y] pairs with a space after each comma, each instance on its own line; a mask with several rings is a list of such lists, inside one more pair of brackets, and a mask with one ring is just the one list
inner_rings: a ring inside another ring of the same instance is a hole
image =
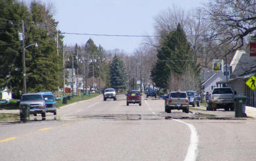
[[234, 97], [236, 91], [232, 91], [230, 87], [214, 88], [212, 94], [209, 95], [206, 110], [217, 110], [223, 108], [225, 110], [234, 110]]

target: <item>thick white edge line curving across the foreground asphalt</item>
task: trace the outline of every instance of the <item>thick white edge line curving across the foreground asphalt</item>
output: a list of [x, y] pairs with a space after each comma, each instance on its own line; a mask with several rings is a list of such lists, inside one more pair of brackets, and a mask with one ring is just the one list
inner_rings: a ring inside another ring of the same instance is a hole
[[181, 120], [176, 120], [176, 119], [173, 119], [173, 120], [177, 122], [182, 122], [190, 128], [190, 131], [191, 131], [190, 144], [189, 144], [187, 155], [184, 161], [195, 161], [197, 156], [197, 145], [199, 141], [196, 128], [190, 123], [187, 123]]

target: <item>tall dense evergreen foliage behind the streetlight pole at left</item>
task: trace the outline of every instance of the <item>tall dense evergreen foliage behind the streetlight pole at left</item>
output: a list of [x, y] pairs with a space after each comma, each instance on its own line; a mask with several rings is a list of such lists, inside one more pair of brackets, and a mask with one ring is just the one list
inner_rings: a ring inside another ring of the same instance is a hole
[[[14, 98], [20, 98], [23, 88], [22, 20], [25, 26], [27, 92], [54, 91], [61, 85], [61, 56], [56, 54], [57, 22], [45, 6], [33, 1], [30, 9], [15, 0], [0, 0], [0, 88], [6, 86]], [[51, 26], [51, 27], [49, 27]], [[4, 34], [2, 34], [4, 33]], [[59, 42], [62, 44], [62, 36]], [[2, 54], [3, 53], [3, 54]], [[62, 77], [61, 77], [62, 78]]]

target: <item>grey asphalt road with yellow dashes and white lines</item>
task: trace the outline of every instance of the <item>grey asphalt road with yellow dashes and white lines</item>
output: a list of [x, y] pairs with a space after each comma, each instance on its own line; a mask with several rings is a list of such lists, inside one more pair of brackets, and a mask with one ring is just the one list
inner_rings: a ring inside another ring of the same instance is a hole
[[255, 160], [255, 120], [166, 114], [163, 100], [143, 98], [126, 106], [125, 95], [100, 96], [58, 109], [55, 119], [1, 123], [0, 160]]

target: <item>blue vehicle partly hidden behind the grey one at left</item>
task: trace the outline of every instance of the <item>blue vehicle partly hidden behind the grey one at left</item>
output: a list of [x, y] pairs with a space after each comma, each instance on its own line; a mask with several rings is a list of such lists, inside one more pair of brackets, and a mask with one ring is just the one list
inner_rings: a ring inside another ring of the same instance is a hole
[[[55, 97], [52, 92], [38, 92], [44, 97], [45, 104], [46, 104], [46, 113], [54, 113], [57, 115], [57, 104]], [[37, 115], [37, 114], [34, 114]]]

